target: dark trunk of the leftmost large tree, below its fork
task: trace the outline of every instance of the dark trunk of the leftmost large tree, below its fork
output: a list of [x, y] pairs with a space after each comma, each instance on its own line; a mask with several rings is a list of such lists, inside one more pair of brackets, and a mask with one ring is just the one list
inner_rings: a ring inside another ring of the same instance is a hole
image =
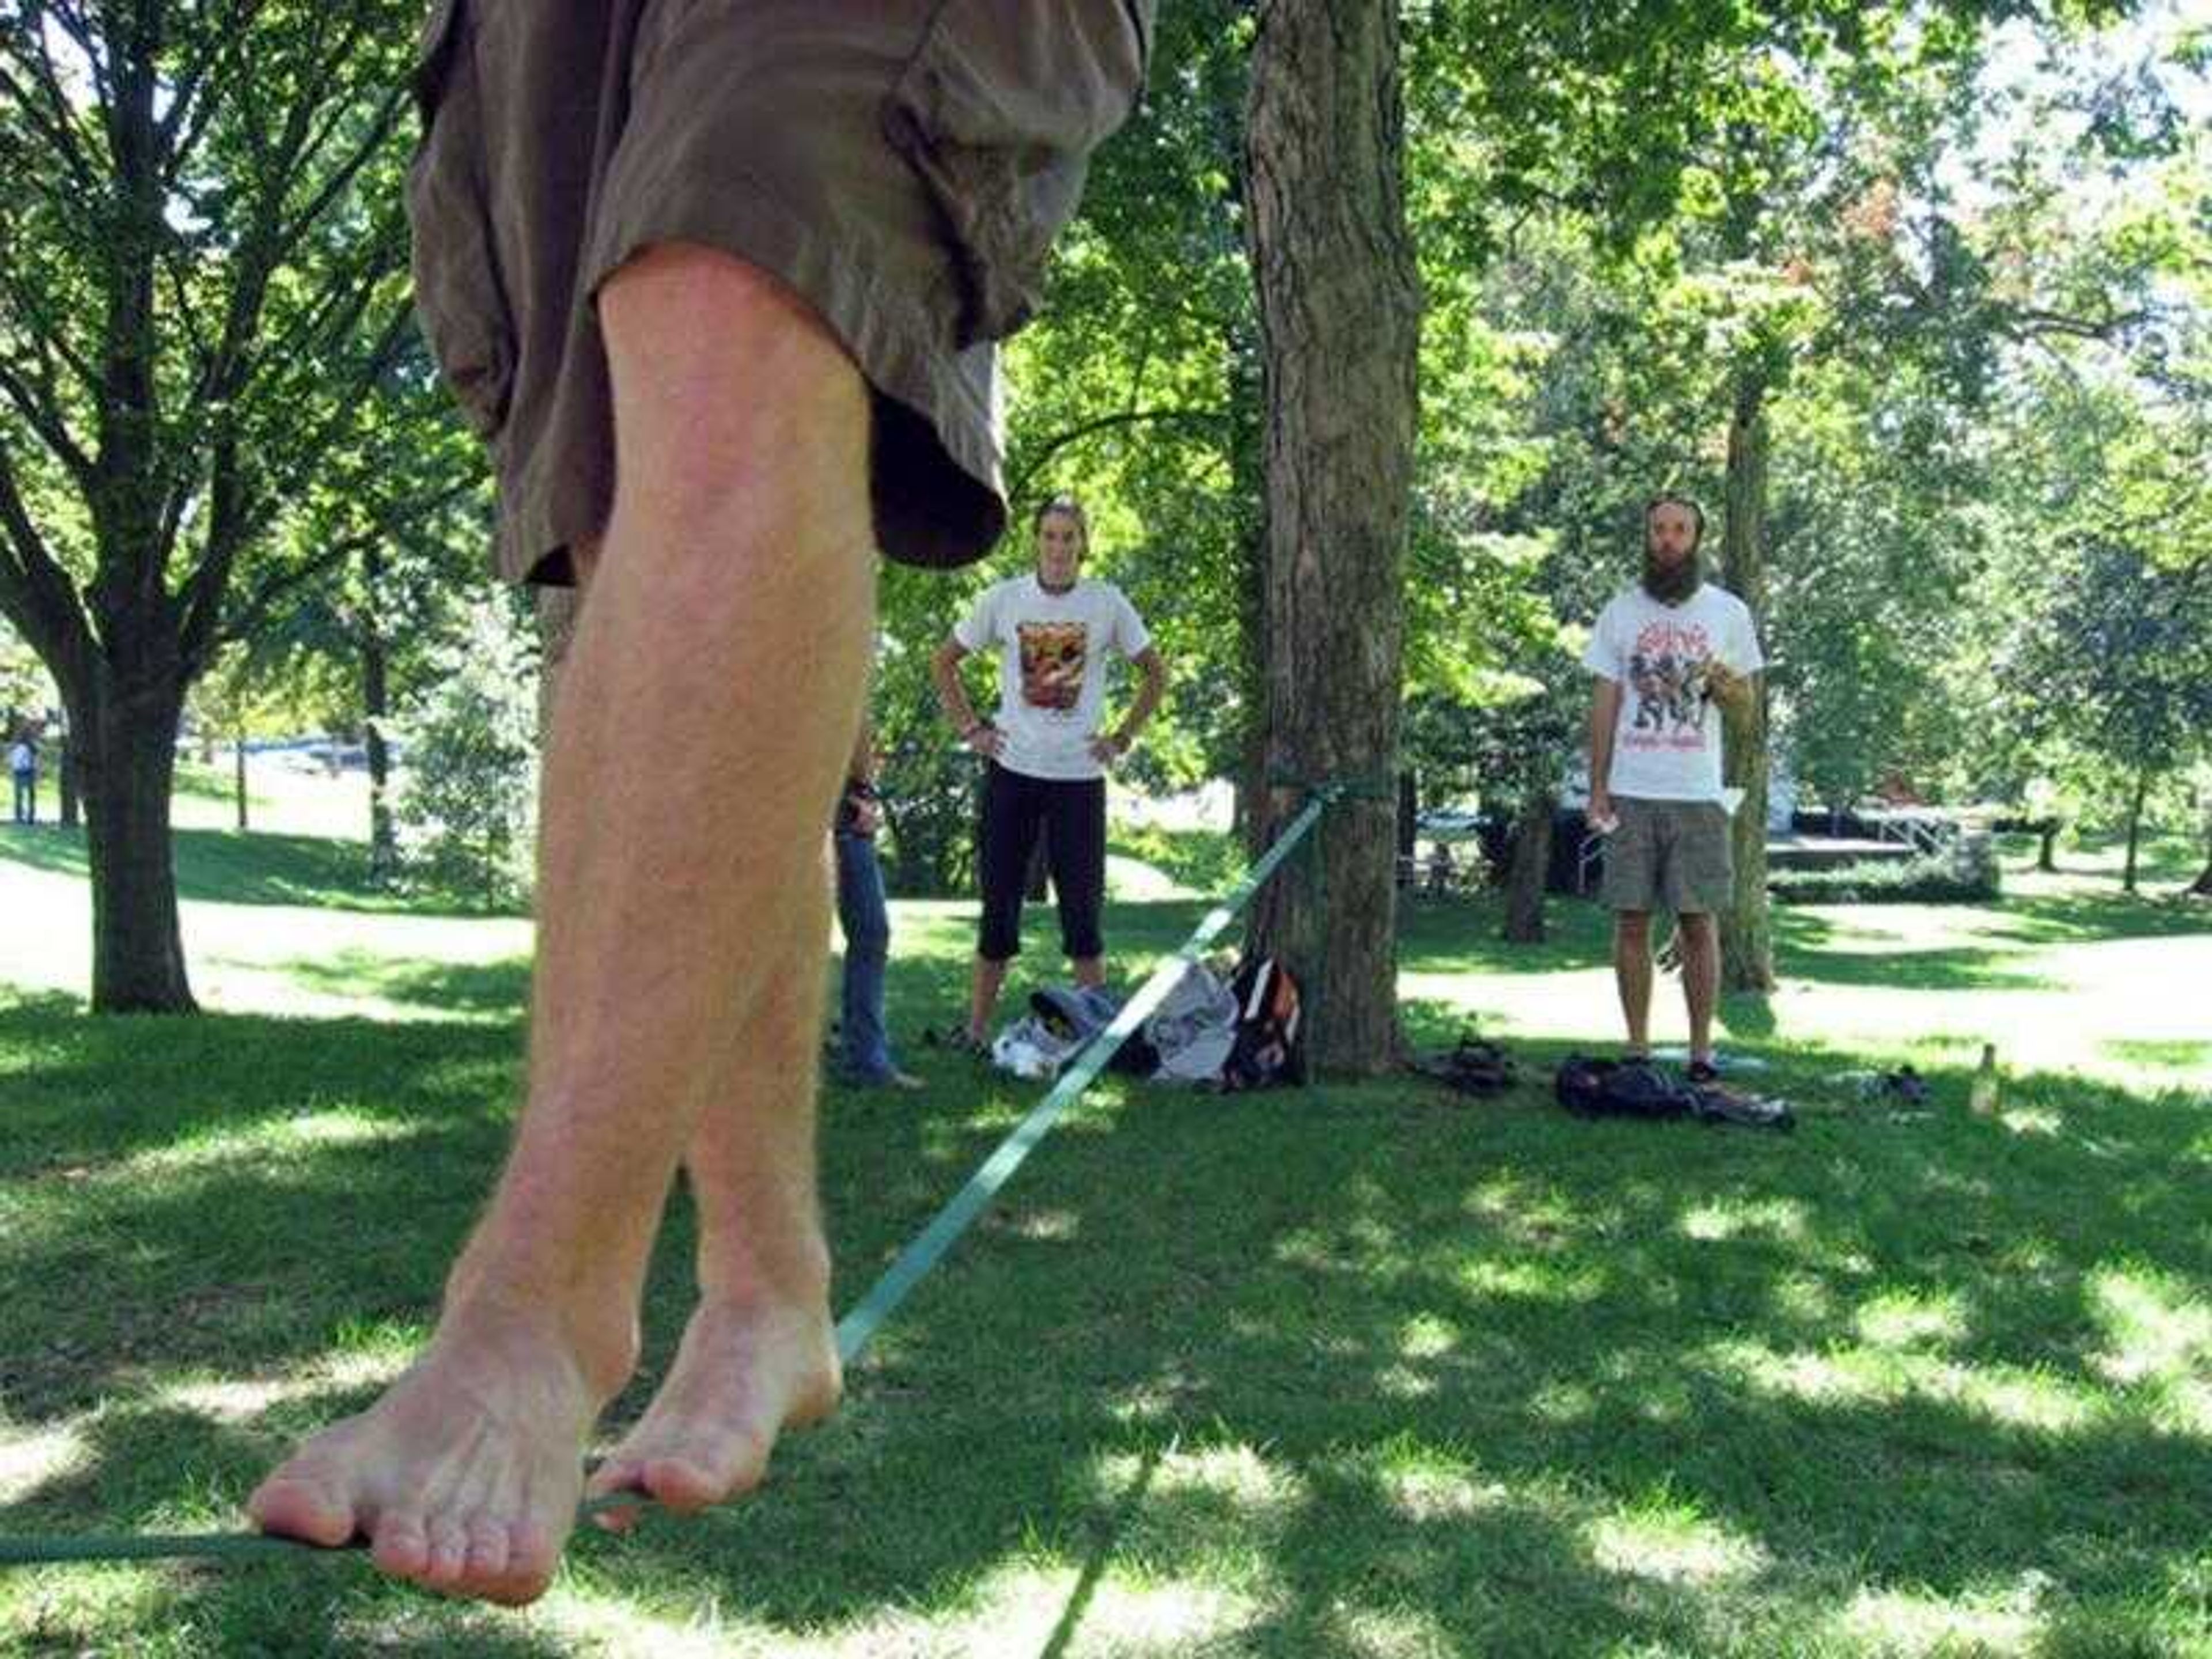
[[104, 661], [93, 672], [93, 708], [71, 710], [71, 730], [91, 734], [93, 1013], [192, 1013], [168, 827], [181, 675], [117, 684]]

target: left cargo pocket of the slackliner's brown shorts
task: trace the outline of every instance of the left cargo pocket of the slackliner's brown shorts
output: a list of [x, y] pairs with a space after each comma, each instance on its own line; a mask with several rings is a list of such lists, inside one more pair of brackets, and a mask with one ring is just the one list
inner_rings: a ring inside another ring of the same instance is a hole
[[491, 438], [515, 389], [515, 323], [484, 188], [484, 102], [465, 0], [436, 0], [414, 69], [422, 137], [407, 168], [416, 314], [469, 425]]

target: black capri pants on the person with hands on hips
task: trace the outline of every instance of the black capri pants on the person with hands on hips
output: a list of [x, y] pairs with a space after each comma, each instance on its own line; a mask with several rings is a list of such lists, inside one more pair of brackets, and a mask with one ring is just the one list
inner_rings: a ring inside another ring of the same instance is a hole
[[1104, 956], [1106, 779], [1033, 779], [998, 761], [982, 781], [982, 936], [975, 953], [987, 962], [1022, 953], [1022, 887], [1037, 830], [1046, 832], [1044, 856], [1060, 896], [1060, 947], [1075, 962]]

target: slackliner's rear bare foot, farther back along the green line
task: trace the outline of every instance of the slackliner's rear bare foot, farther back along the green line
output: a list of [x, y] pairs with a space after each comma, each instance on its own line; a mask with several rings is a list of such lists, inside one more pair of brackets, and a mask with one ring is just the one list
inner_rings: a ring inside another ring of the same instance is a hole
[[[770, 1312], [701, 1301], [646, 1416], [593, 1475], [588, 1495], [644, 1491], [675, 1511], [752, 1491], [783, 1429], [821, 1422], [843, 1394], [825, 1307]], [[624, 1531], [635, 1509], [593, 1520]]]

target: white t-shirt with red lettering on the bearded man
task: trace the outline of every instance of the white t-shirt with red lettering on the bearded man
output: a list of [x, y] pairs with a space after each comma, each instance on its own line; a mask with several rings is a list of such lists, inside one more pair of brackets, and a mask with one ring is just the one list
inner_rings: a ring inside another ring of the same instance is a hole
[[1728, 588], [1703, 582], [1681, 604], [1624, 588], [1597, 615], [1582, 666], [1621, 688], [1613, 794], [1721, 799], [1721, 706], [1705, 686], [1714, 661], [1739, 675], [1765, 668], [1750, 606]]

